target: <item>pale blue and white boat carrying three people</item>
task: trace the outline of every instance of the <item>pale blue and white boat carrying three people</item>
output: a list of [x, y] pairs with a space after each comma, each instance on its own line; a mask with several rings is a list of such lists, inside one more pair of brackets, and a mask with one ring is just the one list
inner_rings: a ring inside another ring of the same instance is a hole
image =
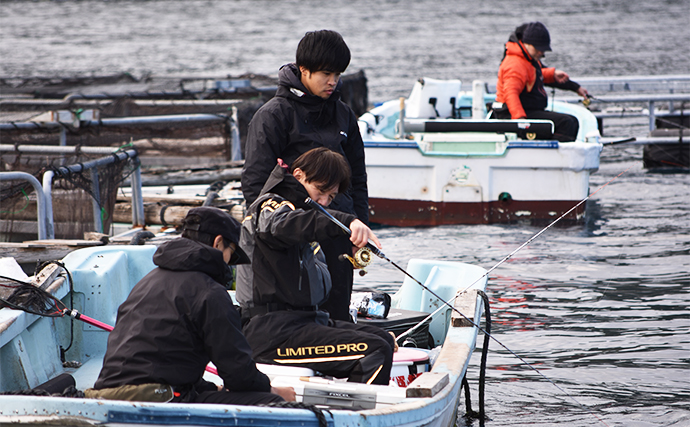
[[[73, 279], [72, 290], [64, 272], [54, 281], [46, 280], [45, 288], [67, 307], [74, 304], [73, 308], [82, 315], [112, 325], [118, 306], [131, 288], [154, 268], [155, 249], [152, 245], [110, 245], [74, 251], [63, 260]], [[479, 322], [483, 303], [477, 290], [486, 286], [486, 270], [457, 262], [411, 260], [407, 271], [440, 298], [455, 301], [455, 306], [463, 307], [461, 310], [468, 318]], [[456, 298], [464, 288], [469, 289]], [[303, 378], [302, 368], [292, 368], [296, 372], [282, 368], [276, 372], [272, 366], [261, 369], [266, 369], [272, 384], [295, 387], [302, 404], [328, 409], [321, 414], [329, 426], [454, 425], [461, 380], [475, 348], [478, 328], [472, 324], [453, 326], [462, 318], [451, 321], [451, 309], [409, 278], [405, 278], [392, 300], [391, 312], [438, 313], [431, 321], [429, 333], [435, 344], [441, 346], [440, 352], [430, 372], [422, 373], [407, 387], [354, 384], [317, 376]], [[70, 322], [74, 322], [72, 327]], [[91, 387], [102, 366], [107, 336], [108, 332], [101, 328], [69, 318], [0, 309], [0, 392], [4, 393], [0, 395], [0, 425], [319, 425], [314, 412], [299, 408], [7, 394], [35, 389], [64, 373], [72, 375], [77, 389]], [[68, 363], [63, 364], [61, 349], [68, 347]], [[404, 365], [398, 363], [396, 367]], [[213, 380], [212, 374], [206, 376]]]

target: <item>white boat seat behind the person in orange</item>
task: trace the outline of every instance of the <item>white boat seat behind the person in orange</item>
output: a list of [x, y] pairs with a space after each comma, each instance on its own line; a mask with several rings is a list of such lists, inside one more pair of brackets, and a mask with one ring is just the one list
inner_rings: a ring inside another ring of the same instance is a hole
[[405, 116], [435, 119], [454, 118], [460, 80], [419, 79], [405, 102]]

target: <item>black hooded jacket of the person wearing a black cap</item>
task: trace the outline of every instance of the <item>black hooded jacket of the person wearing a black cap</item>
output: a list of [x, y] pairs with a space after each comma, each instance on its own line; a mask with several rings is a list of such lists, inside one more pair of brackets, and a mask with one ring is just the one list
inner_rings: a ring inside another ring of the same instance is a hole
[[220, 284], [229, 273], [222, 252], [179, 238], [162, 244], [153, 262], [158, 268], [118, 309], [94, 388], [160, 383], [184, 389], [212, 361], [227, 389], [270, 391]]

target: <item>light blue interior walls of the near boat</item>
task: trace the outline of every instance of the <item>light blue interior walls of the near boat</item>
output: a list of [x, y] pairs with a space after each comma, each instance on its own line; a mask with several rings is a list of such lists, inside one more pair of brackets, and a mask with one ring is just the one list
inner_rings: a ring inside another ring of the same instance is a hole
[[[153, 245], [109, 245], [74, 251], [63, 260], [73, 283], [63, 277], [49, 290], [67, 307], [114, 325], [119, 305], [155, 268], [155, 250]], [[458, 280], [472, 283], [484, 272], [468, 264], [418, 259], [411, 260], [408, 269], [446, 301], [455, 296]], [[429, 313], [439, 308], [439, 302], [409, 278], [392, 301], [392, 307], [404, 310]], [[429, 332], [435, 345], [445, 339], [450, 314], [450, 309], [443, 310], [431, 322]], [[1, 309], [0, 391], [31, 389], [64, 372], [73, 375], [78, 389], [89, 388], [100, 372], [107, 338], [107, 331], [75, 319]]]

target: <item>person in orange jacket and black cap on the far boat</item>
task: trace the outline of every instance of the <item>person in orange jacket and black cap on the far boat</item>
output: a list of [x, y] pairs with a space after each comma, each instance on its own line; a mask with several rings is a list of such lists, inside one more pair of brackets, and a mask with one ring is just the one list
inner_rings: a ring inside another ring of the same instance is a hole
[[554, 138], [574, 141], [579, 130], [577, 118], [545, 111], [548, 97], [544, 85], [571, 90], [582, 97], [587, 97], [587, 89], [570, 80], [565, 71], [542, 65], [540, 59], [550, 50], [551, 37], [541, 22], [529, 22], [515, 29], [498, 69], [494, 117], [551, 120], [555, 126]]

